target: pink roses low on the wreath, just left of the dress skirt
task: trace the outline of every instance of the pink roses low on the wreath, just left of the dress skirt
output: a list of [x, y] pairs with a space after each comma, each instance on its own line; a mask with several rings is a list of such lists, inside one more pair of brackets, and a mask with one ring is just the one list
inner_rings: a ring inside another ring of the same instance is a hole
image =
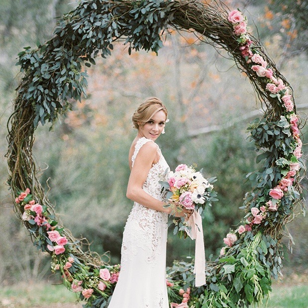
[[[97, 288], [101, 291], [104, 291], [107, 288], [106, 283], [115, 284], [118, 281], [118, 277], [119, 277], [119, 272], [110, 273], [110, 271], [107, 268], [100, 269], [101, 281], [98, 283]], [[74, 281], [71, 285], [72, 291], [81, 292], [84, 298], [89, 299], [92, 296], [94, 289], [92, 288], [83, 289], [82, 284], [83, 281]]]

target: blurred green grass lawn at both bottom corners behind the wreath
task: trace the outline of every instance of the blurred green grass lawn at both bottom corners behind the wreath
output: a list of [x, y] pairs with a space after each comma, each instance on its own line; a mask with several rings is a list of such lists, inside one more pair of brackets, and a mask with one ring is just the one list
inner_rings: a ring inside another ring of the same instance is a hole
[[[0, 288], [1, 308], [82, 308], [76, 294], [62, 285], [45, 282]], [[267, 308], [308, 308], [308, 283], [287, 281], [273, 283]]]

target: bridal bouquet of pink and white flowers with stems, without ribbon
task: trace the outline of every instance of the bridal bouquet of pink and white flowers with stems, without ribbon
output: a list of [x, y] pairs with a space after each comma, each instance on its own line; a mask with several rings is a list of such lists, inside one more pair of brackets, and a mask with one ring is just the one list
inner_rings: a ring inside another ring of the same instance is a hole
[[[217, 193], [213, 191], [212, 183], [216, 178], [205, 179], [202, 170], [196, 171], [192, 166], [185, 164], [179, 165], [175, 172], [169, 171], [165, 174], [166, 181], [161, 181], [162, 193], [164, 199], [168, 202], [166, 207], [171, 206], [174, 212], [181, 212], [184, 208], [197, 210], [204, 218], [204, 208], [211, 205]], [[173, 219], [175, 224], [174, 234], [179, 237], [187, 237], [187, 228], [189, 224], [186, 217]]]

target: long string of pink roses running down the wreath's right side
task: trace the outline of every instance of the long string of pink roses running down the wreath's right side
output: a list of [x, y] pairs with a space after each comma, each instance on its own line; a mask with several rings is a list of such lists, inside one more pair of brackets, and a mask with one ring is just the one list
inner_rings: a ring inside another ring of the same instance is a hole
[[[235, 233], [238, 235], [242, 234], [245, 231], [251, 231], [253, 225], [258, 225], [262, 220], [267, 216], [267, 211], [277, 211], [278, 206], [280, 205], [280, 200], [283, 198], [284, 194], [291, 190], [293, 182], [295, 181], [294, 177], [297, 172], [300, 170], [300, 163], [297, 162], [297, 159], [302, 157], [302, 141], [299, 135], [298, 128], [298, 116], [294, 113], [294, 103], [292, 102], [292, 95], [290, 95], [289, 89], [284, 85], [281, 79], [276, 79], [273, 76], [273, 70], [269, 67], [268, 63], [264, 58], [258, 54], [251, 51], [252, 41], [247, 35], [247, 30], [244, 29], [247, 25], [246, 17], [239, 10], [233, 10], [229, 12], [228, 20], [233, 25], [234, 34], [239, 36], [240, 41], [240, 50], [242, 56], [246, 59], [246, 62], [251, 63], [252, 71], [256, 72], [257, 76], [260, 78], [267, 78], [268, 83], [266, 85], [266, 90], [271, 93], [271, 97], [279, 100], [280, 103], [283, 103], [283, 106], [286, 108], [290, 114], [286, 117], [290, 122], [290, 129], [292, 131], [293, 137], [296, 141], [296, 146], [293, 151], [295, 160], [288, 162], [289, 170], [285, 176], [282, 177], [280, 182], [276, 187], [269, 191], [269, 196], [272, 197], [272, 200], [269, 200], [264, 205], [258, 207], [252, 207], [250, 209], [250, 215], [247, 219], [245, 225], [240, 225]], [[241, 28], [241, 30], [239, 30]], [[285, 173], [284, 173], [285, 174]], [[228, 233], [224, 238], [224, 243], [231, 247], [236, 241], [236, 234]], [[220, 255], [225, 253], [225, 248], [223, 247], [220, 251]]]

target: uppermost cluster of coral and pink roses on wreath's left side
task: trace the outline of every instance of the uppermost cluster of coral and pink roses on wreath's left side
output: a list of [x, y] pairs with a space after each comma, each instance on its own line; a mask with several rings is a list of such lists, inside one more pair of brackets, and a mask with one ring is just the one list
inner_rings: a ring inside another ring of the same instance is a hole
[[28, 203], [25, 202], [25, 199], [29, 197], [29, 194], [30, 189], [26, 188], [26, 190], [15, 199], [15, 202], [17, 204], [23, 206], [24, 211], [21, 217], [22, 220], [29, 221], [30, 219], [33, 219], [39, 227], [43, 226], [46, 228], [46, 230], [49, 230], [50, 223], [43, 215], [43, 206], [38, 203], [35, 203], [34, 200], [30, 200], [28, 201]]

